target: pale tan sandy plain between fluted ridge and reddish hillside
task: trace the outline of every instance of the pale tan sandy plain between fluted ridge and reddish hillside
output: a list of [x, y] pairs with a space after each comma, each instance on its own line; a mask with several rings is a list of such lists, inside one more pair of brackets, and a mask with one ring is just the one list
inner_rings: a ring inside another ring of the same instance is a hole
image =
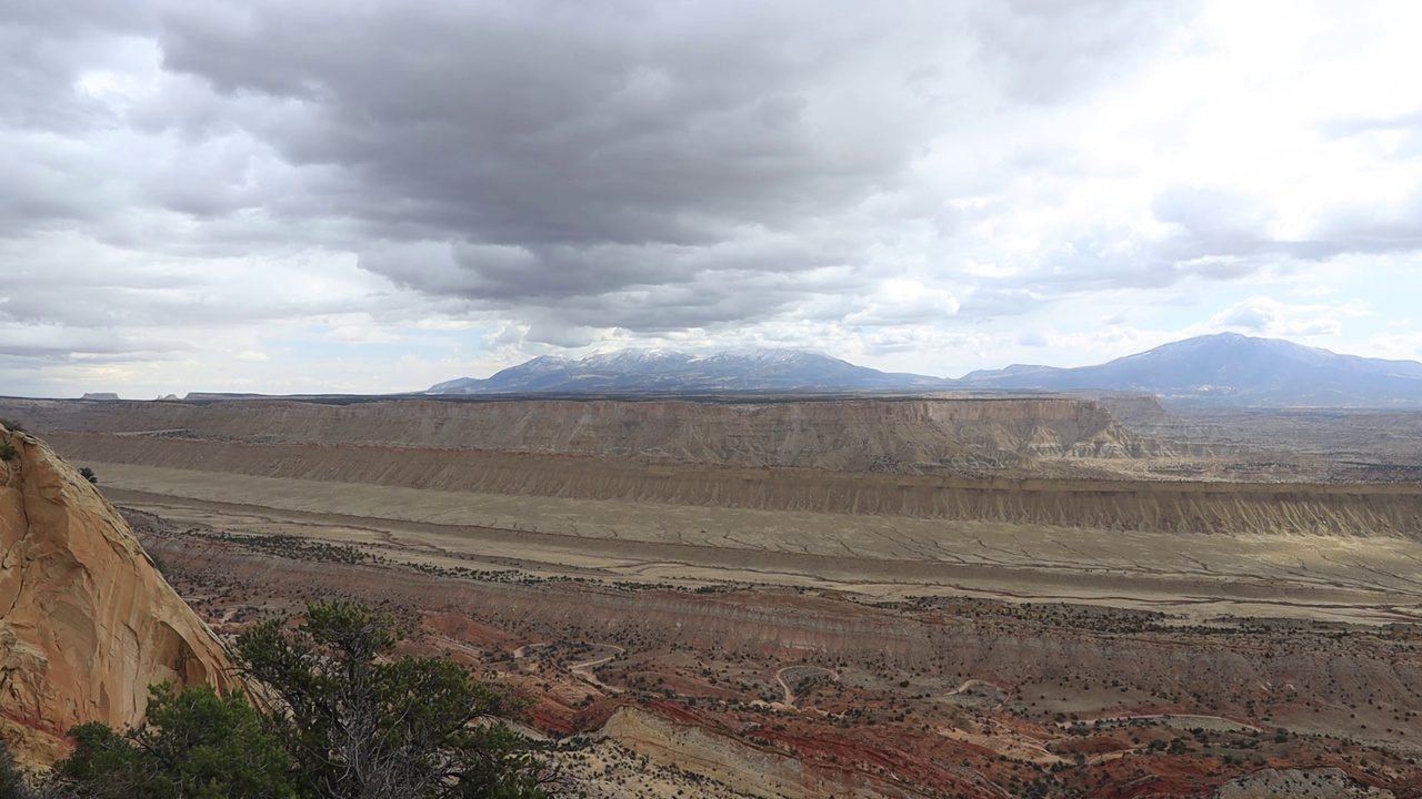
[[1203, 536], [479, 495], [85, 463], [178, 523], [543, 574], [966, 591], [1180, 614], [1422, 621], [1422, 543]]

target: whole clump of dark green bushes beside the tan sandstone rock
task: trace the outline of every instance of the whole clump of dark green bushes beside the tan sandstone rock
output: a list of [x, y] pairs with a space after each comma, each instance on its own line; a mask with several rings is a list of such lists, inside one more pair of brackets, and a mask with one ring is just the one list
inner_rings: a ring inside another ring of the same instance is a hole
[[519, 702], [454, 661], [391, 660], [397, 640], [390, 617], [344, 601], [263, 621], [236, 654], [270, 715], [239, 692], [156, 685], [144, 725], [74, 728], [53, 785], [84, 799], [549, 796], [543, 761], [503, 722]]

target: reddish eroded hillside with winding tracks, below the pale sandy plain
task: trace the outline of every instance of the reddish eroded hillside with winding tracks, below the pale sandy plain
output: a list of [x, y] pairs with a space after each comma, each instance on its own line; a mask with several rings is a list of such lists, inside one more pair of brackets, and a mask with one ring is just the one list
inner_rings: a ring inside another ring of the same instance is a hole
[[380, 601], [414, 645], [520, 685], [579, 795], [1422, 792], [1413, 626], [545, 579], [415, 540], [313, 546], [142, 519], [228, 628], [313, 596]]

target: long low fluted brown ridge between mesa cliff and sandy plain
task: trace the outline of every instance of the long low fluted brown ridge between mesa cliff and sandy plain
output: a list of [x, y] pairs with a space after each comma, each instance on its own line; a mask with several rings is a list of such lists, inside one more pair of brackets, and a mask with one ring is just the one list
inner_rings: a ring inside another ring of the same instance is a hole
[[956, 479], [795, 468], [644, 465], [458, 449], [213, 444], [115, 435], [55, 435], [54, 441], [73, 458], [91, 463], [441, 492], [1180, 535], [1422, 539], [1422, 488], [1416, 483]]

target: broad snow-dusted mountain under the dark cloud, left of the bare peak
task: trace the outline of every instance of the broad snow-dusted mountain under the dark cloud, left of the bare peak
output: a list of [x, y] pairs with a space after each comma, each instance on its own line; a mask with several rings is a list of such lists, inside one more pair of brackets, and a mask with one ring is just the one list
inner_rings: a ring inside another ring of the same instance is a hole
[[717, 391], [934, 390], [947, 381], [882, 372], [801, 350], [734, 350], [690, 355], [670, 350], [619, 350], [580, 360], [540, 357], [488, 380], [441, 382], [429, 394], [600, 394]]

